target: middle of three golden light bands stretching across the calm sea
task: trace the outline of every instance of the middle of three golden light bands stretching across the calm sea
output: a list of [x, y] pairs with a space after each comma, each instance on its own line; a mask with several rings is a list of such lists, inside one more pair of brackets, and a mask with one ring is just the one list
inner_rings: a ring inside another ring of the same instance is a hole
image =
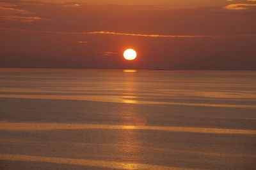
[[51, 124], [51, 123], [0, 123], [0, 130], [7, 131], [40, 131], [51, 129], [138, 129], [149, 131], [195, 132], [209, 134], [256, 134], [255, 130], [216, 129], [202, 127], [160, 127], [133, 125], [102, 125], [102, 124]]

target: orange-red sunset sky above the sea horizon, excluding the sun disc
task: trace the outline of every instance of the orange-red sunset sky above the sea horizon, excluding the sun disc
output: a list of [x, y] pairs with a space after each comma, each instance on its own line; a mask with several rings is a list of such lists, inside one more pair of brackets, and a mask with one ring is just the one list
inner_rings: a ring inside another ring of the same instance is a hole
[[0, 67], [255, 70], [255, 18], [256, 0], [0, 0]]

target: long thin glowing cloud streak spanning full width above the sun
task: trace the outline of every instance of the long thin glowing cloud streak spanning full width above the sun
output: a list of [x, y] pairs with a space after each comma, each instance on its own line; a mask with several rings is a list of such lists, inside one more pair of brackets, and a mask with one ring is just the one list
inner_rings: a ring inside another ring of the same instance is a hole
[[48, 33], [48, 34], [105, 34], [105, 35], [117, 35], [117, 36], [141, 36], [146, 38], [228, 38], [228, 37], [241, 37], [241, 36], [256, 36], [256, 34], [234, 34], [234, 35], [202, 35], [202, 36], [188, 36], [188, 35], [161, 35], [161, 34], [134, 34], [134, 33], [122, 33], [122, 32], [109, 32], [109, 31], [93, 31], [93, 32], [61, 32], [61, 31], [35, 31], [28, 29], [12, 29], [0, 27], [0, 30], [8, 31], [22, 31], [22, 32], [38, 32], [38, 33]]

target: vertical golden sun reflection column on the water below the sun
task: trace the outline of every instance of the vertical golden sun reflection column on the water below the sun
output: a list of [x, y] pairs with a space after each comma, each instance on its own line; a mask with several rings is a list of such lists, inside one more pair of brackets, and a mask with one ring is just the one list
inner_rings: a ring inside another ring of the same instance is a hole
[[[136, 73], [136, 70], [124, 70], [125, 73]], [[120, 143], [120, 147], [118, 148], [118, 152], [123, 154], [120, 158], [121, 160], [131, 161], [137, 160], [140, 162], [141, 160], [141, 149], [140, 149], [140, 141], [138, 140], [138, 127], [136, 126], [136, 117], [138, 117], [138, 111], [136, 110], [136, 74], [124, 74], [123, 81], [123, 96], [122, 103], [127, 103], [122, 105], [122, 124], [123, 131], [120, 131], [120, 138], [118, 139], [118, 143]], [[127, 95], [129, 92], [129, 95]], [[132, 164], [124, 164], [124, 169], [138, 169], [137, 166]]]

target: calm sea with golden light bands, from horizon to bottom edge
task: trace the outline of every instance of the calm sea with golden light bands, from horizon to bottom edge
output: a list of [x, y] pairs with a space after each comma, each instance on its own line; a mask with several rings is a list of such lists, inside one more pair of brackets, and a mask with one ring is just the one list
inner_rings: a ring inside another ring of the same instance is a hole
[[0, 169], [255, 169], [256, 71], [0, 69]]

